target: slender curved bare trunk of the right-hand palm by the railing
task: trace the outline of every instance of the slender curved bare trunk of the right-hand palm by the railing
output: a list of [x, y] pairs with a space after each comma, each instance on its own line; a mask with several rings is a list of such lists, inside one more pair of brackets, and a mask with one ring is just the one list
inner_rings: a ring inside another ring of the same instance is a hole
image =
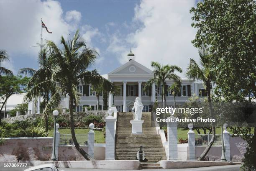
[[[207, 89], [207, 94], [208, 94], [208, 103], [209, 103], [209, 112], [210, 112], [210, 117], [212, 118], [212, 100], [211, 100], [211, 94], [210, 94], [210, 82], [206, 83], [206, 89]], [[212, 138], [209, 142], [209, 145], [205, 148], [205, 150], [202, 152], [201, 156], [198, 158], [198, 160], [203, 161], [205, 159], [205, 156], [207, 153], [210, 151], [210, 148], [212, 147], [212, 144], [215, 141], [215, 126], [211, 123], [212, 127]]]

